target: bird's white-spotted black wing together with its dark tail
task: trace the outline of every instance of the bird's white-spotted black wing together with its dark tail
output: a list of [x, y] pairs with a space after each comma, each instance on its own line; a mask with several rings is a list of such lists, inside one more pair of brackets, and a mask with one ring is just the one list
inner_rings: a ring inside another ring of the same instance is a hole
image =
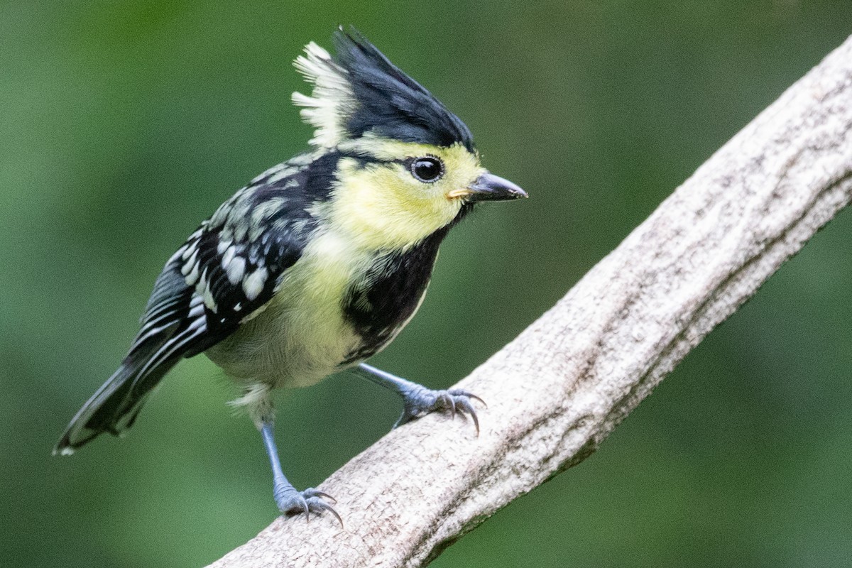
[[302, 170], [269, 171], [222, 204], [172, 255], [130, 352], [74, 416], [55, 451], [70, 453], [100, 433], [130, 427], [181, 358], [222, 341], [273, 297], [302, 255], [314, 218], [295, 191]]

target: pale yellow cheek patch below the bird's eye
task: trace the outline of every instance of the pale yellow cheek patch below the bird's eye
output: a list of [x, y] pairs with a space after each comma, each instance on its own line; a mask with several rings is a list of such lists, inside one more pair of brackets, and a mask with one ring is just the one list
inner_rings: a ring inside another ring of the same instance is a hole
[[444, 227], [461, 202], [437, 184], [423, 184], [396, 164], [341, 164], [331, 224], [362, 247], [405, 249]]

